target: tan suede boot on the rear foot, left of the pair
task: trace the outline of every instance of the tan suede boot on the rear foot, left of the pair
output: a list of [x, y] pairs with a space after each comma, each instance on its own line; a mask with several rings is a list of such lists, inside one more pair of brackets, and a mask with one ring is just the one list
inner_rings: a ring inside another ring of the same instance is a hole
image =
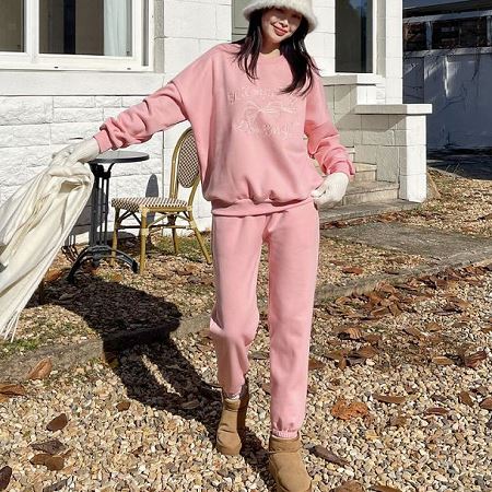
[[225, 398], [222, 391], [222, 415], [216, 430], [216, 449], [223, 455], [238, 455], [246, 437], [246, 410], [249, 388], [238, 399]]

